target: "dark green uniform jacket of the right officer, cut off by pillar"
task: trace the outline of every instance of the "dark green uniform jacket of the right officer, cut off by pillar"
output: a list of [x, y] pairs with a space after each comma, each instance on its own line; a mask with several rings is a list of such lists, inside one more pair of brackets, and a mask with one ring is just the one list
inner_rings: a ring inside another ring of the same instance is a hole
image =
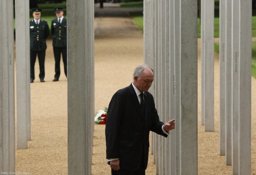
[[67, 47], [67, 18], [63, 18], [61, 24], [58, 18], [51, 21], [52, 46]]

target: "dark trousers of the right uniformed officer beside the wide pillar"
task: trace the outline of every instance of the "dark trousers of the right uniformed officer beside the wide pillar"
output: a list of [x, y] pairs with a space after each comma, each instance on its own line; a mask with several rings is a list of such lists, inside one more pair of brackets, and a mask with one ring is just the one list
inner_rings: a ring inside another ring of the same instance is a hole
[[62, 60], [64, 63], [64, 72], [67, 77], [67, 47], [53, 47], [54, 59], [55, 59], [55, 76], [60, 77], [60, 53], [62, 54]]

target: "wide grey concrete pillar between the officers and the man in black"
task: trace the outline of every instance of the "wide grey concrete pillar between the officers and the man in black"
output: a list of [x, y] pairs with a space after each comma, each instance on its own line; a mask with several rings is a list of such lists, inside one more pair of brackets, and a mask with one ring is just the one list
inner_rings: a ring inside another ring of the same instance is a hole
[[91, 116], [94, 111], [93, 8], [91, 1], [67, 2], [68, 174], [91, 174]]

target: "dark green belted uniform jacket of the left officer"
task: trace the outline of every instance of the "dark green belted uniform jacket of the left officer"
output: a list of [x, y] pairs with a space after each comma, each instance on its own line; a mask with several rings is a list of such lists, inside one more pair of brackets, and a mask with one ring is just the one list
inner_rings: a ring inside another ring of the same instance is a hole
[[46, 20], [40, 19], [36, 24], [34, 19], [29, 21], [30, 26], [30, 50], [42, 51], [47, 48], [46, 38], [49, 35], [49, 26]]

